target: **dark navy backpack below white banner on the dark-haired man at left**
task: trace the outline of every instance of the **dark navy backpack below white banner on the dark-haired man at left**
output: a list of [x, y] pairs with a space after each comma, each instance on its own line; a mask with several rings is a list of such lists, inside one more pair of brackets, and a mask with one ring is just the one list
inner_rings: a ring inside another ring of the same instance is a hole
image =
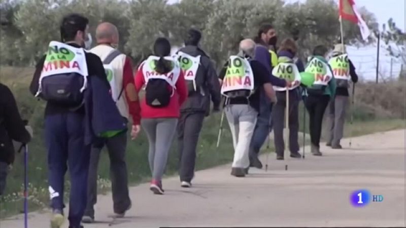
[[77, 106], [83, 102], [84, 76], [79, 73], [62, 73], [44, 77], [41, 81], [41, 98], [66, 106]]

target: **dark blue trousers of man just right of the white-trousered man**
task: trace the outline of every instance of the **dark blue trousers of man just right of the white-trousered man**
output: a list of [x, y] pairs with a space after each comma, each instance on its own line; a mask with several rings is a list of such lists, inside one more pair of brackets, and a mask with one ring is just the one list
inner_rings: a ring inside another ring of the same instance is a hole
[[253, 156], [258, 156], [259, 150], [272, 130], [272, 122], [270, 120], [272, 103], [270, 103], [269, 98], [266, 97], [263, 89], [260, 91], [259, 100], [259, 113], [249, 149], [250, 161]]

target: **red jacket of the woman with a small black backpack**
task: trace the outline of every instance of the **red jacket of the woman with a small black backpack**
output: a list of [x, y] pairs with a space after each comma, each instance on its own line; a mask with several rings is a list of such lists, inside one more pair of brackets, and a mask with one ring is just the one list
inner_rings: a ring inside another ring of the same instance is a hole
[[[136, 72], [135, 82], [137, 93], [140, 93], [141, 88], [145, 85], [143, 66], [139, 67]], [[153, 119], [153, 118], [179, 118], [180, 108], [187, 99], [188, 92], [185, 82], [185, 77], [181, 71], [178, 81], [175, 84], [176, 90], [171, 98], [171, 101], [166, 107], [154, 108], [147, 105], [145, 97], [141, 101], [141, 118]]]

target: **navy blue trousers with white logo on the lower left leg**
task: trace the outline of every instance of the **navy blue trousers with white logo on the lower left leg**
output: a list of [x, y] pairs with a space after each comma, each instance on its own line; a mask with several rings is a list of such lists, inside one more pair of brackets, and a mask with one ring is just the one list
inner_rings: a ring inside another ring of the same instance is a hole
[[64, 208], [64, 176], [69, 167], [71, 193], [68, 219], [75, 227], [80, 225], [87, 198], [90, 145], [84, 144], [84, 132], [83, 114], [69, 112], [45, 117], [51, 208]]

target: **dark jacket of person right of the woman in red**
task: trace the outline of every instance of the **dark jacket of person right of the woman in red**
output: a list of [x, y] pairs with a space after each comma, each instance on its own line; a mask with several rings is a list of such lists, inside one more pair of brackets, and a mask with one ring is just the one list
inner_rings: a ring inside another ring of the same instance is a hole
[[196, 73], [197, 92], [189, 93], [181, 107], [181, 112], [185, 111], [204, 111], [208, 116], [210, 113], [210, 99], [214, 107], [219, 107], [221, 102], [220, 83], [217, 78], [216, 69], [213, 66], [209, 56], [196, 46], [186, 46], [179, 51], [196, 57], [200, 55], [200, 66]]

